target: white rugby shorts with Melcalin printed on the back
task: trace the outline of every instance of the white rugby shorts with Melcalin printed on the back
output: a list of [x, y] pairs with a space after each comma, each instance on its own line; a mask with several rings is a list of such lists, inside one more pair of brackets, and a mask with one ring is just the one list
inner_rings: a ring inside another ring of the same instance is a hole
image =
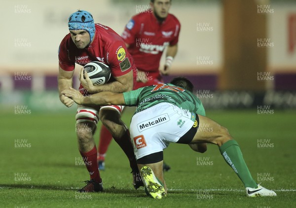
[[160, 103], [136, 113], [130, 124], [136, 159], [163, 151], [191, 129], [192, 113], [169, 103]]

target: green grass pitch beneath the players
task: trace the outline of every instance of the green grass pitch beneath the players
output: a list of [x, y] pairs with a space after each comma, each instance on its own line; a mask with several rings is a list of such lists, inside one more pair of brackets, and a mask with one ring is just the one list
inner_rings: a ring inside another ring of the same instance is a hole
[[[154, 200], [143, 188], [133, 189], [128, 161], [114, 141], [106, 158], [107, 170], [101, 173], [105, 191], [75, 192], [83, 186], [81, 181], [88, 179], [88, 173], [83, 166], [75, 165], [80, 155], [74, 109], [62, 114], [1, 112], [0, 207], [295, 207], [295, 113], [275, 110], [273, 115], [257, 115], [256, 109], [207, 112], [238, 141], [255, 180], [258, 173], [270, 174], [273, 181], [263, 181], [262, 185], [277, 190], [277, 197], [245, 197], [243, 184], [215, 145], [200, 154], [187, 145], [170, 144], [164, 150], [164, 159], [172, 168], [165, 173], [169, 193], [165, 199]], [[126, 112], [123, 120], [129, 123], [131, 115]], [[31, 147], [15, 148], [15, 139], [28, 139]], [[98, 132], [95, 139], [97, 142]], [[258, 148], [258, 139], [270, 139], [273, 147]], [[197, 166], [197, 158], [208, 158], [212, 165]], [[27, 174], [29, 181], [16, 181], [17, 173]], [[203, 196], [210, 199], [201, 199]]]

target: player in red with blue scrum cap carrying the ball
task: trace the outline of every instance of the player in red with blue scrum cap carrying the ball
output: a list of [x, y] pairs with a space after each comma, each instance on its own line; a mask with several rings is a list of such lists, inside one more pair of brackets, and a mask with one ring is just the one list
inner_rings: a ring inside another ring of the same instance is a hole
[[[111, 68], [113, 80], [102, 86], [94, 86], [90, 79], [80, 79], [79, 92], [83, 95], [103, 91], [122, 93], [133, 89], [136, 81], [136, 67], [120, 35], [107, 26], [95, 24], [92, 15], [84, 10], [78, 10], [70, 15], [68, 27], [70, 33], [62, 40], [58, 55], [58, 87], [60, 100], [63, 104], [67, 107], [74, 104], [61, 92], [73, 87], [75, 63], [84, 66], [91, 61], [99, 61]], [[98, 170], [97, 148], [93, 139], [99, 118], [128, 157], [132, 168], [134, 187], [137, 189], [143, 185], [143, 182], [137, 179], [139, 170], [129, 131], [120, 119], [122, 108], [123, 106], [120, 105], [104, 107], [78, 105], [75, 116], [78, 149], [90, 174], [90, 180], [85, 181], [87, 184], [79, 190], [80, 192], [103, 190]]]

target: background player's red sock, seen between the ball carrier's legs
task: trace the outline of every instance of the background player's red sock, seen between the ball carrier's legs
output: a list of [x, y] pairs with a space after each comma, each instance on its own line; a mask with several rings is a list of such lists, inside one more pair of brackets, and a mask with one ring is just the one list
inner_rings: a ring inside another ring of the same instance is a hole
[[98, 147], [98, 160], [102, 160], [102, 161], [105, 160], [105, 155], [111, 140], [112, 140], [111, 133], [105, 126], [102, 126], [101, 133], [100, 133], [99, 147]]

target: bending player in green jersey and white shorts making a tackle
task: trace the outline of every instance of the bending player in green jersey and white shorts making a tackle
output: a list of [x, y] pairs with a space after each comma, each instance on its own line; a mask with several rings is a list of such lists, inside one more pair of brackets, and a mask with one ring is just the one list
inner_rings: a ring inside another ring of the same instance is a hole
[[[153, 198], [161, 199], [167, 194], [162, 163], [163, 149], [170, 142], [189, 144], [198, 152], [206, 151], [205, 143], [218, 145], [225, 162], [243, 182], [247, 196], [276, 196], [255, 182], [238, 143], [226, 128], [205, 116], [204, 107], [192, 90], [189, 80], [177, 77], [168, 84], [124, 93], [103, 92], [90, 97], [83, 97], [74, 89], [62, 93], [77, 104], [137, 106], [130, 124], [131, 140], [145, 188]], [[212, 131], [198, 131], [203, 126]]]

